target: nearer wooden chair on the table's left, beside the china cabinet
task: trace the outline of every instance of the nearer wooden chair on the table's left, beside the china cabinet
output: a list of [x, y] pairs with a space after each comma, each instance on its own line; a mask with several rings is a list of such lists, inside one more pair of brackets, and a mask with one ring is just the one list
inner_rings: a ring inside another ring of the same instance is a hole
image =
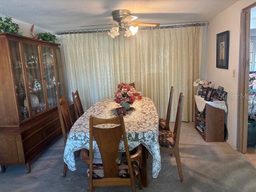
[[[65, 97], [62, 97], [60, 99], [57, 98], [56, 101], [57, 101], [58, 112], [60, 117], [60, 126], [62, 130], [62, 136], [64, 139], [64, 145], [66, 146], [67, 136], [73, 124], [70, 117], [66, 98]], [[66, 177], [66, 174], [67, 174], [67, 164], [64, 162], [63, 177]]]

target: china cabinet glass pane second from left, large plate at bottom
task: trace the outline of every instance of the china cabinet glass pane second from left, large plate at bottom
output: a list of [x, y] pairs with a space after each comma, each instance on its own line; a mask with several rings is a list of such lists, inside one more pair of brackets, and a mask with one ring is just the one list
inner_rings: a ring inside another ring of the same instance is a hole
[[[23, 43], [23, 52], [30, 104], [32, 114], [35, 115], [46, 110], [38, 45]], [[28, 106], [27, 98], [24, 99], [24, 105]]]

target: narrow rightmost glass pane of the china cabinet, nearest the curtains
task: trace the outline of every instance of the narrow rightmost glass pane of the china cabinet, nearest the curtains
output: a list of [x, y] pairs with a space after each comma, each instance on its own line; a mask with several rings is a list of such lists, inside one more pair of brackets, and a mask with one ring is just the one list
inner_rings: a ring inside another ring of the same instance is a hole
[[54, 49], [55, 52], [55, 62], [56, 62], [56, 72], [57, 72], [57, 84], [58, 84], [58, 98], [64, 96], [63, 89], [63, 79], [62, 79], [62, 70], [61, 70], [61, 62], [60, 62], [60, 50]]

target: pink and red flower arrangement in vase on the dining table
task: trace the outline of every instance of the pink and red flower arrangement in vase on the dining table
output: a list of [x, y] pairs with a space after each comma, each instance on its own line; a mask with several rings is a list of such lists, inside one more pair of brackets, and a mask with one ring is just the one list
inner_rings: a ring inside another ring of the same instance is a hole
[[133, 86], [119, 83], [115, 92], [115, 102], [121, 104], [126, 110], [130, 109], [130, 104], [133, 104], [136, 90]]

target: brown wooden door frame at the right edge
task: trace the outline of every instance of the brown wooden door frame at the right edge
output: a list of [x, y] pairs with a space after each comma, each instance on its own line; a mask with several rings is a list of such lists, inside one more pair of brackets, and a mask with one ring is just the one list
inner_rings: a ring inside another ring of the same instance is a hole
[[250, 64], [250, 14], [256, 2], [242, 9], [240, 25], [240, 50], [238, 73], [238, 135], [237, 150], [247, 152], [248, 92]]

